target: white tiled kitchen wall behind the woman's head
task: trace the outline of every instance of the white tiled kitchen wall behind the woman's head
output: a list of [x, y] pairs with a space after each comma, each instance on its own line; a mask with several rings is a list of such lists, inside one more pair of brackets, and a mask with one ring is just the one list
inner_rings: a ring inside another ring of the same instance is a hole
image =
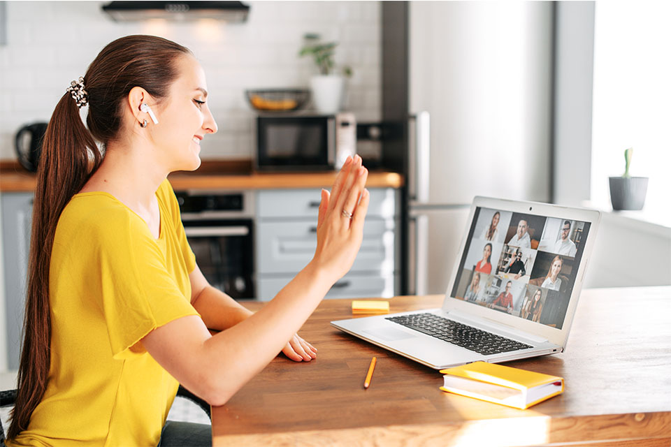
[[23, 124], [48, 121], [70, 81], [84, 75], [104, 45], [155, 34], [189, 47], [208, 79], [219, 132], [201, 144], [203, 159], [252, 157], [254, 114], [245, 89], [307, 87], [316, 68], [299, 59], [303, 34], [339, 41], [335, 60], [352, 66], [345, 106], [359, 120], [380, 119], [380, 3], [247, 1], [247, 22], [117, 23], [101, 1], [7, 1], [7, 43], [0, 45], [0, 159], [13, 159]]

